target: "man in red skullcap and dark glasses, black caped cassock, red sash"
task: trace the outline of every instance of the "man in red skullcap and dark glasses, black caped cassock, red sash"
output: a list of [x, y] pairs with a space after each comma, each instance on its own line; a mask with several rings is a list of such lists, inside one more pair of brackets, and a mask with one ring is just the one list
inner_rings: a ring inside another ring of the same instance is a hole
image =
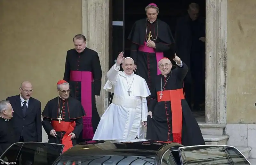
[[[65, 80], [57, 83], [59, 96], [47, 102], [42, 112], [42, 125], [49, 143], [63, 144], [64, 150], [77, 144], [83, 129], [84, 109], [80, 101], [69, 97], [69, 84]], [[52, 149], [54, 150], [54, 149]]]

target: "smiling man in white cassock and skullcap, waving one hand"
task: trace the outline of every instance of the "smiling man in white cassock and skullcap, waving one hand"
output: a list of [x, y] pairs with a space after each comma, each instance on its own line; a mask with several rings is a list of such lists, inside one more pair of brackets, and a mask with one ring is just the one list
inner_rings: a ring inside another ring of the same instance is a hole
[[[100, 119], [92, 140], [145, 139], [150, 95], [142, 77], [134, 74], [134, 61], [121, 52], [116, 64], [108, 71], [103, 89], [114, 93], [112, 103]], [[124, 71], [120, 70], [120, 64]]]

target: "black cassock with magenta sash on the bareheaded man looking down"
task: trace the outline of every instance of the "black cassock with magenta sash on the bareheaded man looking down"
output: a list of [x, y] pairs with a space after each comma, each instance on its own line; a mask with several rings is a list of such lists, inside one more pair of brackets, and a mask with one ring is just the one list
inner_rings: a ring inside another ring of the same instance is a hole
[[101, 77], [100, 59], [96, 51], [89, 48], [82, 53], [75, 49], [68, 50], [63, 79], [70, 84], [70, 96], [81, 101], [86, 113], [79, 141], [92, 139], [100, 122], [95, 95], [100, 95]]

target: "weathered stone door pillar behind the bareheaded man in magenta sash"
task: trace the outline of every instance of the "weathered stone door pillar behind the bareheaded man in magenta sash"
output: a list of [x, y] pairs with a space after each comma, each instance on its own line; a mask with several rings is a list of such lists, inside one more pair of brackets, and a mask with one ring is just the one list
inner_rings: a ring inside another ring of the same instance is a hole
[[[83, 34], [87, 47], [98, 52], [102, 69], [102, 88], [107, 82], [109, 52], [109, 0], [82, 0]], [[100, 116], [108, 107], [108, 92], [101, 88], [96, 102]]]

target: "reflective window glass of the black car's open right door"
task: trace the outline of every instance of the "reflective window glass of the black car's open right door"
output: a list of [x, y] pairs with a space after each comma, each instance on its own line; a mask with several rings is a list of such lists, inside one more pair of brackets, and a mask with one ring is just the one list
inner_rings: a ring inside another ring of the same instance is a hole
[[194, 146], [180, 150], [182, 164], [194, 165], [229, 165], [250, 164], [246, 158], [231, 146]]

